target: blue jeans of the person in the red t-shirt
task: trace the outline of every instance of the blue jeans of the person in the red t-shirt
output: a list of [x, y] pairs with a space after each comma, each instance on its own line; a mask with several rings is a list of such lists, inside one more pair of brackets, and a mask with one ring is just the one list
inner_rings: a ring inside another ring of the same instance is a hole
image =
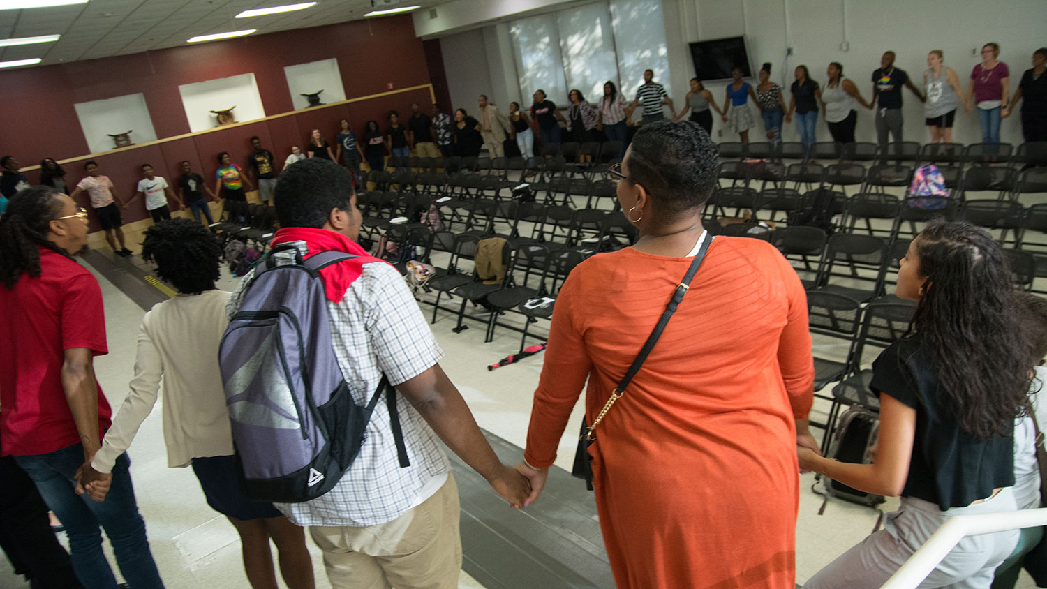
[[135, 589], [163, 589], [146, 538], [146, 522], [134, 499], [131, 459], [120, 454], [106, 500], [76, 495], [76, 469], [84, 463], [84, 447], [67, 446], [50, 454], [15, 456], [15, 461], [37, 483], [40, 496], [59, 517], [69, 537], [76, 577], [86, 589], [116, 589], [116, 577], [102, 552], [101, 525], [113, 546], [120, 573]]

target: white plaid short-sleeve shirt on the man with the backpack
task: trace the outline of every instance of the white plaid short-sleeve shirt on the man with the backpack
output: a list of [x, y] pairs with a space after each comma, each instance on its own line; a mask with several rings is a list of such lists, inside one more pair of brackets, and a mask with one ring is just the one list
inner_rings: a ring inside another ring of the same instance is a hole
[[[294, 245], [305, 250], [304, 242]], [[290, 252], [276, 255], [291, 259]], [[248, 273], [230, 298], [230, 316], [253, 275]], [[366, 404], [383, 372], [397, 385], [443, 357], [403, 277], [388, 264], [364, 264], [344, 298], [328, 300], [328, 312], [335, 356], [358, 404]], [[400, 468], [388, 408], [380, 401], [359, 455], [334, 489], [312, 501], [276, 503], [276, 507], [303, 526], [377, 525], [407, 512], [426, 482], [449, 472], [450, 463], [432, 429], [403, 395], [397, 395], [397, 408], [409, 467]]]

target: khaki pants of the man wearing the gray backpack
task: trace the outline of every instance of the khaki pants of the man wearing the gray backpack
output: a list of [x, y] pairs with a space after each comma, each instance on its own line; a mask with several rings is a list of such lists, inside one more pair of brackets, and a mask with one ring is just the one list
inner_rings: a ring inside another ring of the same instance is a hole
[[367, 527], [312, 526], [334, 589], [455, 589], [462, 569], [454, 477], [399, 518]]

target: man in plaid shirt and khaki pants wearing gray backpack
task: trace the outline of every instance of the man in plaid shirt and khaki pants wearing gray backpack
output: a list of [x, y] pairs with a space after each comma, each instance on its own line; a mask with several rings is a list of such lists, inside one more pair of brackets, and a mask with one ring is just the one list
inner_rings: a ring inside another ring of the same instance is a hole
[[[442, 350], [400, 273], [354, 242], [361, 219], [346, 171], [319, 158], [299, 162], [281, 175], [273, 201], [281, 229], [271, 253], [245, 276], [229, 302], [228, 341], [223, 340], [221, 353], [248, 490], [253, 485], [259, 494], [298, 501], [318, 495], [300, 502], [277, 500], [276, 507], [294, 523], [310, 526], [335, 587], [458, 587], [458, 488], [437, 438], [514, 507], [522, 506], [530, 485], [498, 460], [441, 369]], [[314, 255], [319, 257], [310, 262]], [[282, 299], [279, 281], [271, 278], [275, 272], [303, 287], [287, 290], [293, 294]], [[318, 291], [307, 289], [317, 288], [314, 279], [320, 280]], [[255, 281], [260, 288], [252, 291]], [[277, 331], [272, 322], [277, 319], [265, 323], [267, 314], [258, 311], [266, 305], [280, 313], [294, 308], [294, 318]], [[282, 339], [290, 325], [300, 341]], [[257, 344], [250, 343], [251, 327], [261, 327]], [[281, 362], [263, 358], [267, 346], [279, 348], [281, 360], [292, 365], [281, 368], [275, 365]], [[320, 383], [325, 371], [333, 371], [337, 382]], [[311, 392], [294, 397], [298, 389]], [[351, 423], [354, 417], [359, 421]], [[274, 446], [265, 441], [266, 428]], [[288, 429], [298, 431], [285, 435]], [[343, 431], [354, 433], [336, 439]], [[279, 471], [318, 437], [327, 446], [316, 457], [307, 455], [308, 469], [282, 471], [288, 473], [282, 480], [255, 474], [267, 459], [281, 462], [269, 470]], [[321, 460], [343, 445], [358, 447], [346, 470]], [[319, 493], [311, 495], [313, 490]]]

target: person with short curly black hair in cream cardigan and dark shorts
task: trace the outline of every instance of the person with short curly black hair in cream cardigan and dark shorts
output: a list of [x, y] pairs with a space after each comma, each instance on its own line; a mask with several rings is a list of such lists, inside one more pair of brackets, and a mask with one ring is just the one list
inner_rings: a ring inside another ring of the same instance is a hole
[[161, 221], [146, 231], [141, 257], [179, 296], [142, 318], [135, 376], [102, 449], [80, 482], [90, 488], [109, 472], [134, 439], [157, 401], [163, 381], [163, 440], [168, 467], [193, 467], [207, 504], [228, 518], [240, 534], [244, 570], [252, 589], [276, 589], [269, 540], [280, 553], [280, 570], [290, 589], [313, 589], [313, 564], [302, 527], [272, 503], [247, 497], [237, 476], [232, 434], [225, 410], [218, 346], [228, 324], [228, 292], [215, 281], [222, 248], [215, 235], [188, 219]]

